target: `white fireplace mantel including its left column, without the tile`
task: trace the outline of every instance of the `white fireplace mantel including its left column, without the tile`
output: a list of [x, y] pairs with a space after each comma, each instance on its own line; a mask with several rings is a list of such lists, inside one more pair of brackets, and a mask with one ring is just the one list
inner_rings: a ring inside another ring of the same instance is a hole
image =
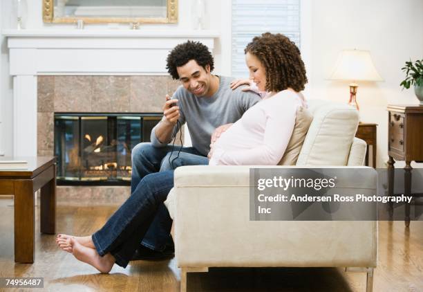
[[37, 75], [168, 75], [169, 51], [188, 39], [214, 49], [214, 30], [2, 30], [13, 76], [17, 156], [37, 154]]

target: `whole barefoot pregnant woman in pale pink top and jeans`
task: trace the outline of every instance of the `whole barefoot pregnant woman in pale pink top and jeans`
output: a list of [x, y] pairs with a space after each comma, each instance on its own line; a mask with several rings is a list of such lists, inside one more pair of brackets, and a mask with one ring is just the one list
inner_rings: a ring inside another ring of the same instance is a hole
[[[290, 140], [297, 108], [305, 105], [299, 92], [307, 82], [306, 69], [288, 37], [254, 37], [245, 60], [250, 79], [267, 94], [212, 143], [209, 165], [276, 165]], [[100, 230], [88, 237], [59, 235], [57, 244], [102, 273], [115, 263], [125, 267], [172, 187], [173, 171], [149, 174]]]

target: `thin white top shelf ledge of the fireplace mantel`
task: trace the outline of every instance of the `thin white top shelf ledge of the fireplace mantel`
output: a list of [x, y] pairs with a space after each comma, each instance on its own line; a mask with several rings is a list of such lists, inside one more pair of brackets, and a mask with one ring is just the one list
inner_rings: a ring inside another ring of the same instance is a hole
[[218, 38], [220, 33], [217, 30], [1, 30], [4, 37], [155, 37], [155, 38]]

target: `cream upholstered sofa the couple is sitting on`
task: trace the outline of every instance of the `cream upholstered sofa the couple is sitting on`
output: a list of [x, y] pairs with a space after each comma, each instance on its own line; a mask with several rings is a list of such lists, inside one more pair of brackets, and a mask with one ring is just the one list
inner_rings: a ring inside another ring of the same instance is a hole
[[[366, 143], [355, 138], [358, 112], [318, 100], [311, 100], [309, 109], [313, 120], [296, 167], [363, 165]], [[359, 185], [375, 188], [374, 179]], [[346, 267], [367, 272], [372, 291], [376, 221], [250, 221], [249, 187], [248, 166], [176, 170], [165, 203], [174, 219], [182, 291], [187, 273], [229, 266]]]

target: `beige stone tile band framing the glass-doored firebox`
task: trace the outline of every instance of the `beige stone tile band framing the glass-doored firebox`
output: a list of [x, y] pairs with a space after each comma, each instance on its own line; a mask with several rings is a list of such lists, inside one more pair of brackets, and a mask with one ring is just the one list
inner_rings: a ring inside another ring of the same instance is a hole
[[169, 76], [38, 76], [37, 154], [53, 155], [54, 113], [157, 113], [178, 86]]

